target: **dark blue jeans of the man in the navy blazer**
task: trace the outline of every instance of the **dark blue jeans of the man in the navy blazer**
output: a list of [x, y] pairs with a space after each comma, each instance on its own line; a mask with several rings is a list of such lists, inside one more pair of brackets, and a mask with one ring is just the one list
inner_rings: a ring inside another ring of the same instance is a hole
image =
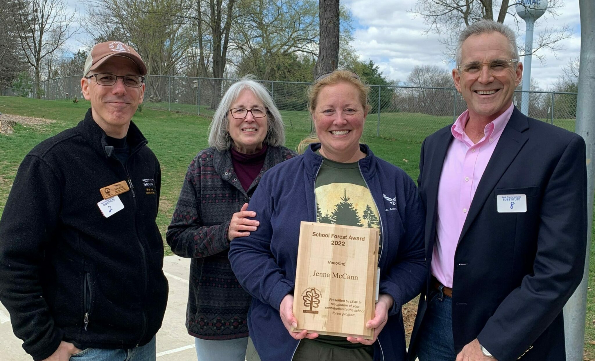
[[417, 346], [419, 361], [455, 361], [452, 337], [452, 299], [442, 291], [428, 295], [428, 306], [419, 327]]

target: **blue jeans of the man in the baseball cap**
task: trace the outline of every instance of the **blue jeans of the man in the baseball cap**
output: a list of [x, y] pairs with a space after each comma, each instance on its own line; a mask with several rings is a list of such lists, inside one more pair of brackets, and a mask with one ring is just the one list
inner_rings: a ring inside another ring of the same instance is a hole
[[70, 356], [71, 361], [155, 361], [155, 336], [145, 346], [134, 349], [84, 349]]

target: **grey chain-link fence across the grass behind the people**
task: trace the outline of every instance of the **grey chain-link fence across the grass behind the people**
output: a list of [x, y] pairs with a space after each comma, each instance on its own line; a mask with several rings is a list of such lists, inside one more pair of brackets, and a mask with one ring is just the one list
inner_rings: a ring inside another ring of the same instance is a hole
[[[42, 81], [42, 99], [82, 99], [81, 76]], [[144, 107], [212, 117], [221, 96], [235, 79], [179, 76], [146, 76]], [[307, 134], [312, 130], [306, 91], [310, 83], [262, 81], [273, 95], [283, 115], [287, 130]], [[421, 143], [429, 134], [451, 124], [466, 109], [462, 96], [453, 88], [370, 86], [370, 110], [364, 137]], [[35, 89], [35, 87], [33, 87]], [[17, 96], [12, 88], [0, 95]], [[35, 97], [33, 93], [25, 96]], [[528, 92], [529, 115], [547, 123], [574, 131], [577, 93]], [[526, 97], [526, 95], [525, 95]], [[513, 102], [520, 108], [522, 92], [515, 92]]]

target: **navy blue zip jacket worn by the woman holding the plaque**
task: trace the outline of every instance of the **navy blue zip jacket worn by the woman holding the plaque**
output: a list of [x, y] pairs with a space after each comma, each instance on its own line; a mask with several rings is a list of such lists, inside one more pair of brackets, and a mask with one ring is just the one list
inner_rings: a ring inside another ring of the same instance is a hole
[[[405, 360], [401, 306], [417, 296], [425, 281], [424, 209], [414, 181], [400, 168], [367, 156], [359, 168], [377, 205], [383, 247], [378, 260], [380, 293], [393, 297], [389, 321], [374, 343], [374, 360]], [[300, 221], [316, 221], [314, 181], [322, 157], [311, 145], [303, 155], [275, 165], [262, 177], [248, 210], [256, 212], [258, 230], [231, 242], [231, 268], [252, 295], [250, 337], [262, 361], [289, 361], [299, 344], [283, 326], [279, 306], [293, 293]], [[396, 197], [396, 204], [389, 198]]]

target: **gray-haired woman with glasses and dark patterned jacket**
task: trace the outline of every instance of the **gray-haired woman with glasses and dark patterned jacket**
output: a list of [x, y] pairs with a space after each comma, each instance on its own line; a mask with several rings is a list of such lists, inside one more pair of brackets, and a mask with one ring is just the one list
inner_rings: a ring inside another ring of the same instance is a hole
[[252, 76], [229, 87], [215, 111], [209, 148], [188, 167], [167, 243], [192, 258], [186, 328], [200, 361], [244, 360], [252, 299], [231, 271], [230, 241], [258, 221], [248, 201], [262, 174], [295, 155], [283, 146], [283, 121], [273, 99]]

